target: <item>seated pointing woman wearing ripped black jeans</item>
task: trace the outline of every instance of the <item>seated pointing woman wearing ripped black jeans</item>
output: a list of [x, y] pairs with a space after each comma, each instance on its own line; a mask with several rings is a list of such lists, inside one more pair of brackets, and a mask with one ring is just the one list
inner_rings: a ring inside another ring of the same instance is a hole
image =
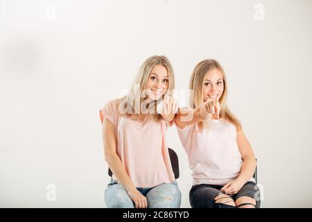
[[225, 104], [227, 79], [216, 60], [196, 65], [191, 108], [180, 108], [177, 132], [189, 156], [191, 207], [259, 207], [256, 160], [239, 120]]

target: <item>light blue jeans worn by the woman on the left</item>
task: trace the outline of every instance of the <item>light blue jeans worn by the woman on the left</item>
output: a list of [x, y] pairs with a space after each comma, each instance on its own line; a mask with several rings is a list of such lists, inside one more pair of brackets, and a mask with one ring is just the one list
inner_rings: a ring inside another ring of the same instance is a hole
[[[181, 191], [177, 187], [177, 182], [149, 188], [137, 187], [137, 190], [146, 196], [148, 208], [178, 208], [181, 205]], [[135, 208], [135, 203], [128, 192], [116, 181], [107, 185], [105, 204], [108, 208]]]

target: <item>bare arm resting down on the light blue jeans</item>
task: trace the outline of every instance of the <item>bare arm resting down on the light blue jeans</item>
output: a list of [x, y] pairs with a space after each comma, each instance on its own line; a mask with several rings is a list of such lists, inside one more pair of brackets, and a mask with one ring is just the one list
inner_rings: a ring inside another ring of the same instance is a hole
[[135, 202], [135, 207], [147, 207], [146, 197], [139, 193], [116, 153], [117, 139], [115, 127], [106, 118], [103, 120], [102, 132], [105, 161], [110, 167], [112, 173], [121, 185], [128, 191], [130, 198]]

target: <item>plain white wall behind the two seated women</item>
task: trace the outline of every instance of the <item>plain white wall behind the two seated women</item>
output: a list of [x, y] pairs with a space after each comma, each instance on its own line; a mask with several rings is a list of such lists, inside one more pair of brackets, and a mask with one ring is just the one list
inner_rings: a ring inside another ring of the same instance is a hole
[[[312, 1], [0, 0], [0, 15], [0, 207], [105, 207], [98, 110], [153, 55], [171, 60], [178, 89], [216, 58], [262, 207], [312, 207]], [[190, 207], [187, 156], [168, 133]]]

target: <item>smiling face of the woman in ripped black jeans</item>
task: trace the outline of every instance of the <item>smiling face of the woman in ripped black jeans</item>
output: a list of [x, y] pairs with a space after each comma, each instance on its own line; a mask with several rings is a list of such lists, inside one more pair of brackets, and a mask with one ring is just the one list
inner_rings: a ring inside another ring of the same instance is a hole
[[224, 82], [223, 74], [219, 69], [211, 69], [205, 76], [204, 83], [202, 86], [202, 98], [204, 102], [210, 98], [220, 99], [223, 94]]

